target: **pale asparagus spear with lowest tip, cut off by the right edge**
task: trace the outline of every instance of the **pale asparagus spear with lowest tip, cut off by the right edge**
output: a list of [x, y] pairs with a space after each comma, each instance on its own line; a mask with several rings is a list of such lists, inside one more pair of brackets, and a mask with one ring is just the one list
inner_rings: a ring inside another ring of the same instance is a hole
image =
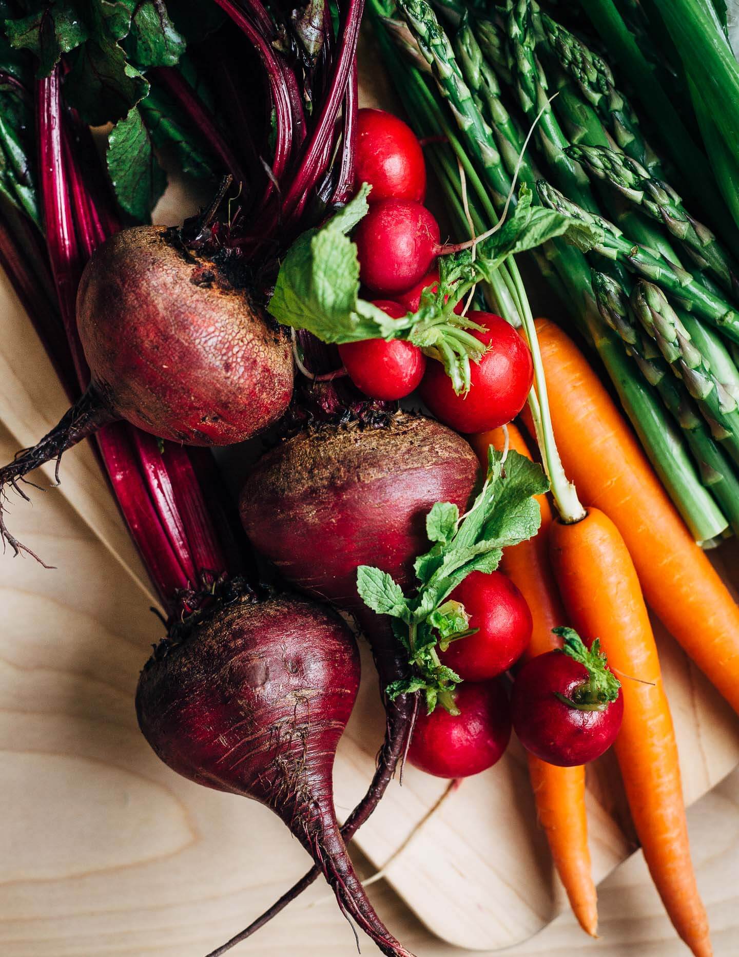
[[640, 279], [631, 294], [631, 307], [665, 361], [698, 403], [713, 437], [722, 443], [734, 461], [739, 462], [739, 406], [736, 399], [713, 375], [663, 291]]

